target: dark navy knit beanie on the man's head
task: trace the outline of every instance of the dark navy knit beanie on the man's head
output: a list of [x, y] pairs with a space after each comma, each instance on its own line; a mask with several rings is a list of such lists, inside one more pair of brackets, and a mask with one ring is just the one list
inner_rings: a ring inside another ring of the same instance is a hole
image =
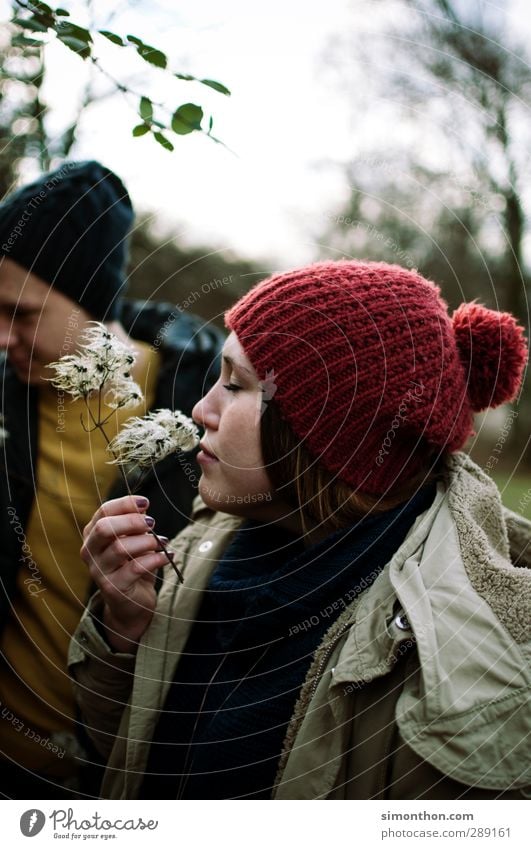
[[65, 162], [0, 203], [0, 254], [110, 321], [124, 292], [133, 207], [96, 161]]

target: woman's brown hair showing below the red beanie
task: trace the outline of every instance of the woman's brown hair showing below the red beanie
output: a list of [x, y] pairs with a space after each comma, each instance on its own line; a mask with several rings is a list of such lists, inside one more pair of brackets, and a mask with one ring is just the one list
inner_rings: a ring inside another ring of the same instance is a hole
[[383, 513], [409, 500], [425, 484], [443, 478], [445, 454], [427, 444], [416, 450], [423, 457], [415, 477], [390, 489], [385, 496], [356, 492], [325, 469], [298, 439], [270, 401], [261, 418], [262, 455], [271, 483], [283, 501], [301, 518], [326, 523], [332, 530], [348, 527], [368, 513]]

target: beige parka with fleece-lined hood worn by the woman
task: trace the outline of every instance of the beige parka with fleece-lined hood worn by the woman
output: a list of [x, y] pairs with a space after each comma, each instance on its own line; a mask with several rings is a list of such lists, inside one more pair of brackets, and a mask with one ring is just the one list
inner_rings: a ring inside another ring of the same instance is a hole
[[[102, 796], [138, 796], [202, 591], [241, 520], [199, 499], [172, 543], [135, 656], [94, 624], [69, 666], [89, 734], [109, 755]], [[288, 726], [272, 798], [522, 798], [531, 785], [531, 523], [465, 454], [376, 581], [332, 621]], [[321, 611], [320, 615], [326, 615]], [[330, 615], [330, 614], [328, 614]]]

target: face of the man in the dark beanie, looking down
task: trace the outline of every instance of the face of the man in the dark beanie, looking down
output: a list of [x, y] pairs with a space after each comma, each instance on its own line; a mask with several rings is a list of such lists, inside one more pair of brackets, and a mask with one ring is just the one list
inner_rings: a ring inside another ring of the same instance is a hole
[[17, 262], [0, 258], [0, 350], [17, 377], [43, 385], [48, 363], [73, 354], [91, 317]]

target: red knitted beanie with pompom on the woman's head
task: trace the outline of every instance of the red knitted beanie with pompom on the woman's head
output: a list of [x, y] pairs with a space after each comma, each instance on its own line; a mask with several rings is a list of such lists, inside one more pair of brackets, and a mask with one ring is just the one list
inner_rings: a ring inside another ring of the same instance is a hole
[[386, 263], [321, 262], [259, 283], [225, 316], [309, 452], [360, 492], [382, 495], [456, 451], [473, 413], [511, 400], [527, 361], [508, 313], [462, 304]]

